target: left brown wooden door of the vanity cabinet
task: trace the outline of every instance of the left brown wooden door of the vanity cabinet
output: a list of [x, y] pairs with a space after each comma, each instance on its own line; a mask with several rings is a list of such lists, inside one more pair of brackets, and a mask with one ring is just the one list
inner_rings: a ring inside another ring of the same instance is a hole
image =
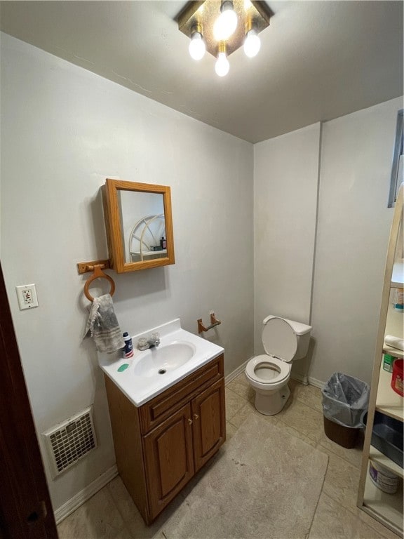
[[151, 520], [194, 475], [191, 423], [187, 404], [143, 439]]

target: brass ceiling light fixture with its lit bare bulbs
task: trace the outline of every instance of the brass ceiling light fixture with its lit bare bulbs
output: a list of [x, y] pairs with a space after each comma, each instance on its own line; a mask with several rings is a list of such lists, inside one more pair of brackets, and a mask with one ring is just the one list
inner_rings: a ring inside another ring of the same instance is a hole
[[208, 51], [217, 58], [215, 72], [225, 76], [229, 55], [241, 46], [248, 57], [257, 55], [261, 47], [258, 34], [269, 26], [272, 15], [263, 1], [202, 0], [189, 1], [177, 22], [180, 31], [191, 39], [191, 57], [201, 60]]

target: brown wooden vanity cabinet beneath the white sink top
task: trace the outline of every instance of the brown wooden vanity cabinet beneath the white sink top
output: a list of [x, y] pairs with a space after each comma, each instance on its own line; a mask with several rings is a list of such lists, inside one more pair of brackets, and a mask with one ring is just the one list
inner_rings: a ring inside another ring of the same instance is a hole
[[223, 355], [139, 408], [105, 386], [118, 471], [151, 524], [226, 438]]

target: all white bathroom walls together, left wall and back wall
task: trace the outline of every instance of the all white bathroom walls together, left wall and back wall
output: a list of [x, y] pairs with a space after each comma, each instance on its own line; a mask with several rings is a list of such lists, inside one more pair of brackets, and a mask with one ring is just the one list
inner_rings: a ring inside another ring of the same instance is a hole
[[[274, 312], [313, 324], [311, 378], [339, 370], [369, 380], [401, 99], [323, 125], [318, 198], [318, 124], [253, 155], [247, 142], [5, 34], [0, 98], [1, 264], [36, 427], [93, 403], [100, 442], [48, 477], [55, 508], [114, 464], [102, 375], [93, 343], [81, 342], [86, 276], [76, 272], [76, 262], [107, 258], [107, 177], [172, 190], [175, 265], [111, 272], [123, 331], [180, 317], [195, 333], [214, 309], [223, 323], [207, 336], [226, 349], [229, 373], [253, 353], [253, 317], [259, 353], [262, 318]], [[15, 286], [32, 282], [40, 306], [20, 312]]]

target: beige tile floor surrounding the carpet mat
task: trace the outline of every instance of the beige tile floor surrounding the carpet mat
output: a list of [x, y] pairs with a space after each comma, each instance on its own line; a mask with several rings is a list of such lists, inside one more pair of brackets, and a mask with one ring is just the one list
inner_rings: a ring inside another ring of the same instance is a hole
[[[329, 457], [321, 496], [310, 533], [305, 539], [397, 539], [396, 534], [356, 507], [361, 447], [345, 449], [325, 436], [321, 390], [294, 380], [290, 380], [289, 385], [291, 395], [283, 411], [274, 416], [260, 417]], [[227, 384], [227, 439], [250, 414], [257, 413], [253, 400], [254, 392], [245, 380], [244, 373]], [[166, 539], [159, 529], [176, 505], [182, 503], [184, 496], [185, 493], [180, 493], [147, 528], [121, 479], [116, 477], [59, 524], [59, 538]]]

